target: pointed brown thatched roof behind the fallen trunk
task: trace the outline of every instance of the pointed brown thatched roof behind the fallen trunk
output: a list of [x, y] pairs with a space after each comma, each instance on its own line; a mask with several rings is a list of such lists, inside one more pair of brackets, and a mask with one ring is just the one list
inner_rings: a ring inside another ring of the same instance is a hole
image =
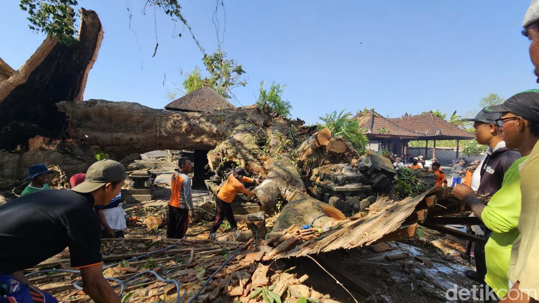
[[212, 112], [222, 109], [236, 109], [223, 96], [209, 87], [199, 88], [165, 106], [168, 110]]

